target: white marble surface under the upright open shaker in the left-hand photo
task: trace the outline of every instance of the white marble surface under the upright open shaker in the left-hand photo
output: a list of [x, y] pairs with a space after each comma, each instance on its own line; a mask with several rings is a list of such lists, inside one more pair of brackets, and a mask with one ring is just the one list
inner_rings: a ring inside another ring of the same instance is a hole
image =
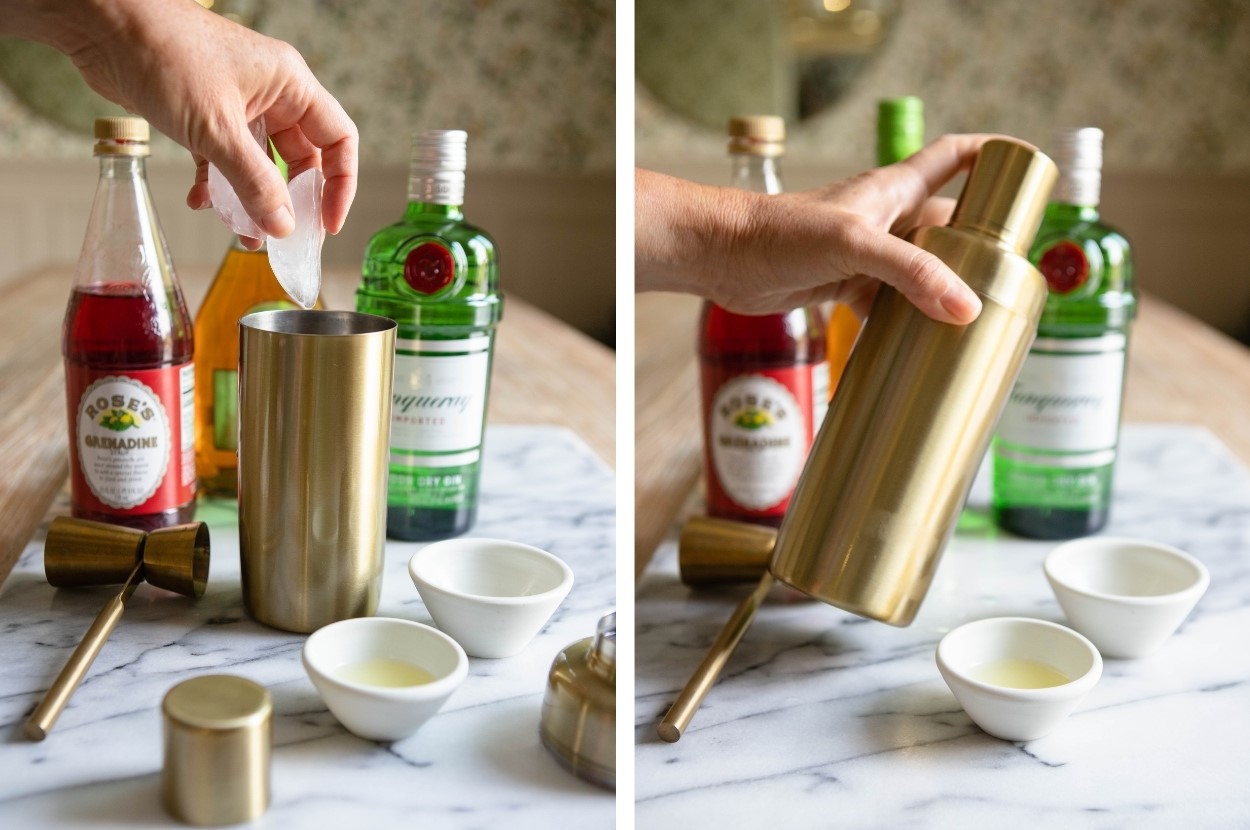
[[[539, 742], [548, 670], [615, 602], [611, 471], [572, 432], [491, 428], [471, 535], [560, 556], [575, 585], [519, 656], [470, 658], [470, 675], [416, 735], [375, 744], [345, 731], [300, 665], [304, 636], [251, 621], [239, 588], [232, 510], [212, 532], [206, 595], [140, 586], [48, 740], [20, 728], [108, 589], [54, 590], [42, 536], [0, 594], [0, 826], [180, 826], [160, 806], [160, 701], [180, 680], [242, 675], [274, 696], [272, 805], [258, 828], [610, 828], [612, 792], [568, 774]], [[415, 542], [389, 541], [379, 614], [430, 622], [408, 575]], [[115, 589], [114, 589], [115, 590]]]

